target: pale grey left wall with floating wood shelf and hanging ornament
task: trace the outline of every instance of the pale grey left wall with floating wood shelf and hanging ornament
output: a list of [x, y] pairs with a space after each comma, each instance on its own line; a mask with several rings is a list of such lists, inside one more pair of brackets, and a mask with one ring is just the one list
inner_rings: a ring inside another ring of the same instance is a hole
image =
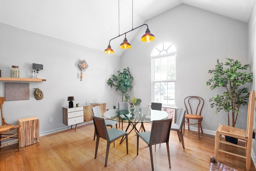
[[[17, 124], [19, 118], [36, 116], [42, 135], [67, 127], [62, 123], [62, 107], [68, 106], [68, 96], [74, 96], [74, 104], [92, 103], [97, 99], [107, 103], [108, 108], [113, 108], [120, 99], [106, 84], [106, 80], [119, 70], [120, 57], [5, 24], [0, 24], [0, 37], [2, 77], [10, 77], [11, 66], [15, 65], [20, 68], [20, 78], [32, 78], [32, 63], [36, 63], [43, 64], [39, 76], [46, 79], [46, 82], [30, 82], [29, 100], [4, 103], [7, 123]], [[89, 65], [82, 82], [78, 68], [81, 60]], [[34, 87], [43, 91], [42, 100], [34, 98]], [[4, 82], [0, 82], [0, 96], [4, 97]], [[53, 122], [48, 122], [49, 117], [53, 117]]]

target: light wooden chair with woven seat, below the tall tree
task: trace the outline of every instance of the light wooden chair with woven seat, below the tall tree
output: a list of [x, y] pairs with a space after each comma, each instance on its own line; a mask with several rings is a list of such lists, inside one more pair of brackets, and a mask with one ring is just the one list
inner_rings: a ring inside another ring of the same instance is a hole
[[[255, 110], [255, 91], [252, 90], [250, 91], [249, 103], [248, 103], [247, 129], [244, 130], [244, 129], [239, 129], [239, 128], [220, 124], [218, 129], [216, 130], [215, 150], [214, 150], [214, 155], [216, 160], [218, 160], [219, 152], [241, 157], [246, 159], [246, 171], [250, 170], [251, 151], [252, 151], [252, 131], [254, 129], [253, 128], [254, 110]], [[245, 143], [243, 143], [242, 145], [230, 143], [222, 139], [222, 135], [237, 138], [241, 141], [244, 141]], [[221, 148], [222, 144], [224, 144], [223, 148]], [[236, 151], [238, 151], [238, 149], [244, 149], [244, 155], [227, 151], [227, 147], [226, 147], [227, 145], [235, 147]]]

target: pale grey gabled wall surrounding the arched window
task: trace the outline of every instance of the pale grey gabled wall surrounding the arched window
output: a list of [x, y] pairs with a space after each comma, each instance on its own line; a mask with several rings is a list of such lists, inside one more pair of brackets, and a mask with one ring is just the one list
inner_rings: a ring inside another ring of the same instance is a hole
[[[233, 58], [248, 64], [247, 24], [184, 4], [145, 23], [156, 39], [141, 42], [146, 30], [142, 27], [130, 42], [132, 48], [122, 56], [123, 68], [128, 66], [134, 74], [134, 96], [142, 99], [142, 105], [151, 103], [150, 53], [159, 42], [170, 41], [177, 49], [177, 107], [184, 107], [186, 96], [201, 96], [205, 100], [203, 129], [215, 131], [219, 123], [227, 124], [227, 115], [223, 112], [215, 115], [207, 103], [223, 89], [211, 91], [205, 83], [211, 77], [208, 70], [214, 69], [217, 58], [221, 62]], [[236, 127], [246, 129], [246, 115], [241, 109]]]

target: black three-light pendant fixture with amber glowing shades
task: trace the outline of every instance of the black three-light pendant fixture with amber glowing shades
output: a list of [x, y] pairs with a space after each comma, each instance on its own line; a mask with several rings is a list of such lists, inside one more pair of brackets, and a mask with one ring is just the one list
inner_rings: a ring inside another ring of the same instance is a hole
[[[132, 48], [132, 46], [131, 46], [130, 43], [128, 43], [128, 40], [126, 38], [126, 33], [129, 33], [129, 32], [131, 32], [131, 31], [133, 31], [133, 30], [135, 30], [137, 28], [140, 28], [142, 26], [147, 26], [147, 29], [146, 29], [146, 33], [142, 36], [141, 41], [142, 42], [152, 42], [155, 39], [155, 36], [150, 33], [150, 30], [148, 29], [148, 25], [147, 24], [142, 24], [141, 26], [133, 28], [133, 0], [132, 0], [132, 30], [130, 30], [128, 32], [125, 32], [123, 34], [120, 34], [120, 26], [119, 26], [119, 24], [120, 24], [120, 22], [119, 22], [119, 0], [118, 0], [118, 30], [119, 30], [119, 34], [118, 34], [118, 36], [110, 39], [110, 41], [115, 39], [115, 38], [118, 38], [118, 37], [120, 37], [122, 35], [125, 35], [124, 42], [122, 42], [122, 44], [120, 44], [120, 48], [121, 49], [130, 49], [130, 48]], [[114, 54], [114, 50], [110, 46], [110, 41], [108, 43], [108, 48], [106, 48], [104, 50], [104, 53], [106, 53], [106, 54]]]

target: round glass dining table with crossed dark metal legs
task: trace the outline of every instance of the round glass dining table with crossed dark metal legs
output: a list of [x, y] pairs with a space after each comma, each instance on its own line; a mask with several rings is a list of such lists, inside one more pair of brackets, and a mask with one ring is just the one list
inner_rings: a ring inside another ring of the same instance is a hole
[[[136, 128], [138, 123], [141, 123], [141, 129], [145, 131], [144, 122], [152, 122], [154, 120], [162, 120], [168, 117], [168, 113], [161, 110], [153, 110], [149, 107], [140, 107], [134, 112], [129, 112], [128, 109], [110, 109], [104, 113], [104, 117], [119, 122], [128, 122], [126, 132], [131, 126], [132, 129], [129, 131], [128, 135], [134, 130], [136, 133], [139, 130]], [[123, 139], [120, 143], [122, 143]]]

